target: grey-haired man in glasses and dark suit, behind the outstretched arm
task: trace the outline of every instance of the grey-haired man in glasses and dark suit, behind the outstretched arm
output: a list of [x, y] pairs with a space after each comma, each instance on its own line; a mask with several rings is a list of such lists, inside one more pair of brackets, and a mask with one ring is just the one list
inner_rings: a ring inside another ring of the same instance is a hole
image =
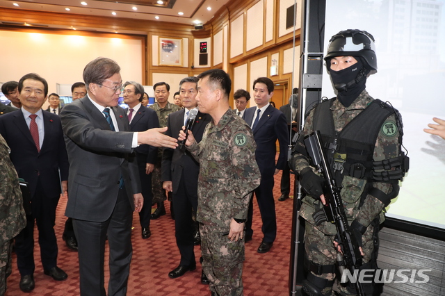
[[[124, 83], [122, 96], [124, 103], [129, 108], [125, 110], [130, 122], [131, 131], [147, 131], [159, 127], [158, 115], [156, 111], [145, 106], [140, 102], [143, 99], [144, 88], [140, 83], [127, 81]], [[136, 160], [138, 161], [138, 170], [140, 177], [140, 186], [144, 197], [144, 206], [139, 212], [139, 222], [142, 228], [142, 238], [147, 239], [152, 235], [150, 231], [150, 217], [152, 216], [152, 172], [154, 163], [158, 157], [158, 149], [150, 145], [140, 145], [136, 149]]]

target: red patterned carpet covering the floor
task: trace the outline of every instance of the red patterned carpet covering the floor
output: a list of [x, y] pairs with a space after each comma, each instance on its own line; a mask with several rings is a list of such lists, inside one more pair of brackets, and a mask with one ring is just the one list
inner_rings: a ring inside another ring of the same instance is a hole
[[[291, 249], [292, 199], [278, 202], [280, 197], [281, 173], [275, 176], [274, 197], [277, 212], [277, 239], [272, 249], [266, 254], [257, 253], [261, 243], [261, 218], [256, 200], [254, 201], [254, 236], [245, 245], [243, 267], [244, 295], [289, 295], [289, 258]], [[293, 184], [293, 176], [291, 176]], [[293, 192], [293, 188], [291, 188]], [[79, 263], [77, 253], [72, 252], [62, 240], [66, 217], [63, 215], [66, 197], [60, 198], [56, 215], [56, 236], [58, 238], [58, 266], [65, 270], [68, 279], [54, 281], [44, 275], [40, 263], [40, 248], [35, 240], [35, 289], [29, 295], [71, 296], [79, 295]], [[175, 224], [170, 217], [170, 204], [165, 202], [167, 215], [152, 220], [152, 236], [143, 240], [140, 237], [138, 215], [133, 217], [133, 260], [129, 277], [127, 295], [210, 295], [209, 287], [200, 283], [201, 268], [199, 262], [193, 272], [186, 272], [183, 277], [170, 279], [168, 272], [179, 264], [179, 251], [175, 242]], [[37, 238], [37, 232], [35, 238]], [[106, 254], [108, 256], [108, 253]], [[200, 257], [200, 247], [195, 247], [196, 258]], [[106, 257], [108, 258], [108, 257]], [[108, 285], [108, 264], [105, 266]], [[13, 254], [13, 274], [8, 277], [6, 296], [24, 295], [19, 289], [20, 276]]]

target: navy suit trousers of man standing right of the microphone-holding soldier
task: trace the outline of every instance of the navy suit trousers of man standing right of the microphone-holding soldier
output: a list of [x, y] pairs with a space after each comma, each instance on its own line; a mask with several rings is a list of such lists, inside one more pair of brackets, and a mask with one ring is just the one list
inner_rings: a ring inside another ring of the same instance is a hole
[[[261, 213], [261, 220], [263, 226], [261, 231], [264, 234], [264, 242], [273, 242], [277, 237], [277, 216], [275, 214], [275, 199], [273, 199], [273, 174], [261, 174], [261, 183], [257, 189], [254, 190], [254, 195], [257, 197], [259, 213]], [[245, 222], [246, 236], [252, 236], [252, 218], [253, 218], [253, 198], [250, 199], [248, 220]]]

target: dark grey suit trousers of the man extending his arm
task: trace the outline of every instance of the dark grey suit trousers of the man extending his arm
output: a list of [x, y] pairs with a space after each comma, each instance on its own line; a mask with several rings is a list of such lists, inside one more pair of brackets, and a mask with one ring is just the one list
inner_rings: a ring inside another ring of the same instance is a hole
[[[88, 198], [88, 197], [85, 197]], [[98, 209], [98, 211], [100, 211]], [[73, 219], [79, 246], [81, 296], [122, 296], [127, 294], [131, 256], [133, 213], [125, 187], [119, 190], [111, 217], [104, 222]], [[108, 294], [104, 288], [105, 242], [110, 247]]]

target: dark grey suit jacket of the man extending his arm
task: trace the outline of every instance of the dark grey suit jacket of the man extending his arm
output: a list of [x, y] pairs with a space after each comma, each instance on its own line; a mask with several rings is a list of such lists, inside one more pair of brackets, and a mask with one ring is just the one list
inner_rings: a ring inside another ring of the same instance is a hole
[[104, 115], [88, 97], [67, 104], [60, 118], [70, 159], [70, 179], [65, 215], [104, 222], [113, 213], [123, 176], [131, 208], [133, 193], [140, 193], [133, 133], [124, 109], [112, 107], [119, 132], [111, 131]]

